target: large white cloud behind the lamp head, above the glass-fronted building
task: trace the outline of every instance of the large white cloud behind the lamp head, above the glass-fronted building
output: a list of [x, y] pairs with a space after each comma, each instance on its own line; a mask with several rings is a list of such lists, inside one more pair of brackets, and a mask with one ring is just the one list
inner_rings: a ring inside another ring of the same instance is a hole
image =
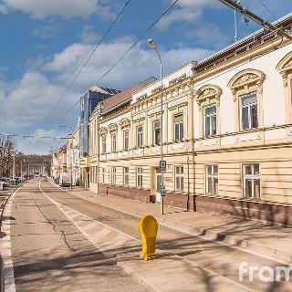
[[[96, 54], [80, 74], [76, 82], [78, 87], [87, 89], [91, 84], [96, 84], [103, 73], [118, 60], [132, 42], [132, 38], [124, 37], [116, 39], [110, 44], [100, 45]], [[74, 77], [77, 69], [81, 67], [92, 49], [91, 45], [73, 44], [63, 52], [54, 55], [43, 67], [43, 70], [55, 72], [58, 82], [68, 82]], [[179, 47], [169, 51], [161, 50], [165, 73], [190, 60], [200, 60], [213, 53], [213, 51], [192, 47]], [[100, 85], [124, 89], [143, 78], [159, 75], [158, 66], [159, 62], [155, 52], [140, 44], [134, 47], [106, 78], [101, 80]]]

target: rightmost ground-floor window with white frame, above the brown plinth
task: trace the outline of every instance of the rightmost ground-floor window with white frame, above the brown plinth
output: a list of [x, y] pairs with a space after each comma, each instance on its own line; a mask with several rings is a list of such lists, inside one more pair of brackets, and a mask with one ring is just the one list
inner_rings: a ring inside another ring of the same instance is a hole
[[260, 174], [259, 164], [244, 164], [244, 197], [260, 199]]

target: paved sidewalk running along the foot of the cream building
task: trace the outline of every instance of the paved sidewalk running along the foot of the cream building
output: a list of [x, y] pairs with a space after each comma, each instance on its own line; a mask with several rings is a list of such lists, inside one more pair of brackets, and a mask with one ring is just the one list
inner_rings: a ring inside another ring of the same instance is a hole
[[75, 187], [73, 194], [137, 217], [151, 214], [159, 224], [188, 235], [203, 236], [279, 263], [290, 265], [292, 262], [292, 228], [289, 227], [219, 214], [185, 212], [168, 206], [162, 215], [160, 204], [101, 195], [80, 187]]

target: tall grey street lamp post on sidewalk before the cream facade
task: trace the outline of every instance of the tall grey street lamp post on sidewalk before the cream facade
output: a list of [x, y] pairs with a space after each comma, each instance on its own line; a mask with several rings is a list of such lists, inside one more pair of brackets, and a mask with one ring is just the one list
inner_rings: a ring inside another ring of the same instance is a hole
[[[153, 40], [150, 38], [148, 41], [148, 45], [155, 50], [157, 56], [159, 57], [161, 63], [161, 162], [163, 161], [163, 67], [162, 67], [162, 57], [159, 53], [157, 46]], [[161, 163], [160, 163], [161, 164]], [[161, 214], [164, 214], [164, 184], [163, 184], [163, 172], [161, 170]]]

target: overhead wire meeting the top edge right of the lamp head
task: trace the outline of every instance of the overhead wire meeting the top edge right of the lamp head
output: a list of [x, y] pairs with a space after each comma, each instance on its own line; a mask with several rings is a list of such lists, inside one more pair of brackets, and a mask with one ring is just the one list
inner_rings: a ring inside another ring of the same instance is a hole
[[[109, 73], [110, 71], [115, 68], [119, 63], [120, 61], [126, 57], [126, 55], [130, 52], [130, 50], [135, 47], [140, 41], [141, 39], [151, 30], [151, 28], [153, 26], [155, 26], [161, 19], [163, 16], [165, 16], [171, 9], [174, 5], [176, 5], [176, 3], [178, 3], [179, 0], [175, 0], [172, 2], [171, 5], [169, 5], [163, 12], [162, 12], [162, 15], [159, 16], [152, 24], [151, 26], [148, 26], [146, 28], [146, 30], [141, 34], [141, 36], [121, 55], [121, 57], [98, 79], [97, 81], [97, 84], [99, 84], [99, 81], [103, 78], [105, 78]], [[77, 103], [75, 103], [66, 113], [65, 115], [62, 116], [62, 118], [60, 120], [57, 121], [57, 123], [60, 123], [65, 117], [67, 117], [68, 113], [70, 113], [72, 110], [74, 110], [74, 108], [78, 105], [79, 103], [79, 100]]]

